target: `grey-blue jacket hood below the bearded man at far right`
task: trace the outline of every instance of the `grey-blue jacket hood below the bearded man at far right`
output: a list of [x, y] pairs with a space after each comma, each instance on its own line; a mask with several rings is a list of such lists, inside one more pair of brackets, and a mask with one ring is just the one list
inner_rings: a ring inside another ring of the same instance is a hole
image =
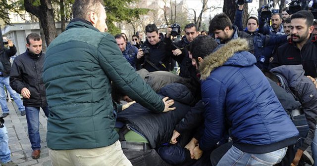
[[305, 71], [303, 65], [282, 65], [270, 70], [272, 73], [277, 73], [286, 79], [289, 86], [297, 84], [301, 81], [301, 77], [304, 76]]

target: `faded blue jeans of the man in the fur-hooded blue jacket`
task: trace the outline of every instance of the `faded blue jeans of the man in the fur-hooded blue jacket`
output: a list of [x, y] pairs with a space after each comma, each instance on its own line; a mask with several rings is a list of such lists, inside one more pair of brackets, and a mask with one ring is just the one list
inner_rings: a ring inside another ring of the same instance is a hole
[[231, 146], [217, 166], [273, 166], [281, 162], [286, 150], [287, 147], [269, 153], [251, 154]]

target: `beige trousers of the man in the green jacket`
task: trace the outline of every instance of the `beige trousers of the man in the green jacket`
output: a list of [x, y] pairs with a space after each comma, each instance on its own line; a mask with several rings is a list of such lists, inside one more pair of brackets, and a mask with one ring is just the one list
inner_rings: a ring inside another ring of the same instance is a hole
[[94, 149], [50, 149], [50, 158], [53, 166], [132, 166], [119, 141]]

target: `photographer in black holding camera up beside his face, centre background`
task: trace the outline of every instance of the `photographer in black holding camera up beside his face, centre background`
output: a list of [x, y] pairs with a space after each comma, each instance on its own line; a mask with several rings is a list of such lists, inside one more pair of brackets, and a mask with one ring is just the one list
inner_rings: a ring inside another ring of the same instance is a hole
[[193, 23], [187, 24], [185, 26], [185, 37], [183, 37], [181, 41], [174, 43], [172, 43], [170, 40], [172, 30], [173, 29], [171, 27], [167, 28], [165, 41], [166, 43], [171, 43], [172, 46], [166, 51], [172, 52], [172, 58], [179, 64], [180, 77], [196, 79], [197, 72], [188, 56], [188, 50], [186, 49], [186, 46], [198, 36], [197, 26]]

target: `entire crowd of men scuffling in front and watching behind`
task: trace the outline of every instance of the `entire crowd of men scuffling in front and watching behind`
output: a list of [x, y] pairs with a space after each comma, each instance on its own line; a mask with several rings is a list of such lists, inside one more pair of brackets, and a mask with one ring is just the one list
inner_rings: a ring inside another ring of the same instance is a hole
[[[171, 27], [163, 35], [149, 24], [145, 41], [141, 31], [129, 41], [105, 33], [101, 0], [75, 0], [74, 19], [46, 53], [34, 33], [12, 67], [14, 44], [0, 49], [1, 117], [9, 116], [5, 86], [38, 159], [42, 108], [53, 166], [313, 164], [306, 150], [317, 161], [317, 21], [308, 10], [283, 9], [269, 24], [265, 10], [244, 26], [240, 4], [234, 23], [224, 13], [208, 33], [190, 23], [177, 42]], [[0, 131], [1, 165], [16, 166]]]

